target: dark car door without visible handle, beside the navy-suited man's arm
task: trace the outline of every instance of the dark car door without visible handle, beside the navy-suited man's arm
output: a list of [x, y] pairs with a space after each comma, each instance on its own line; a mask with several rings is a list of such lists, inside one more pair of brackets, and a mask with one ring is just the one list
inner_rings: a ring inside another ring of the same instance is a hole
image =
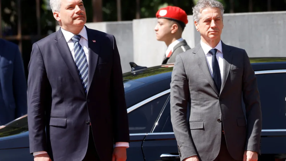
[[164, 91], [127, 109], [130, 133], [127, 161], [144, 161], [143, 140], [152, 131], [168, 96], [168, 91]]

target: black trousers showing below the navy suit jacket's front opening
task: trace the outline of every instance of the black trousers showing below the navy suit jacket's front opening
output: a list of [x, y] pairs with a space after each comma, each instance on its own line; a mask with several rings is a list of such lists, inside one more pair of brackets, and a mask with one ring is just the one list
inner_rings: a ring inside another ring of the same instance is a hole
[[88, 139], [88, 149], [86, 152], [86, 156], [84, 157], [82, 161], [100, 161], [98, 154], [96, 152], [95, 145], [94, 145], [91, 126], [90, 126], [90, 133], [89, 133], [89, 139]]

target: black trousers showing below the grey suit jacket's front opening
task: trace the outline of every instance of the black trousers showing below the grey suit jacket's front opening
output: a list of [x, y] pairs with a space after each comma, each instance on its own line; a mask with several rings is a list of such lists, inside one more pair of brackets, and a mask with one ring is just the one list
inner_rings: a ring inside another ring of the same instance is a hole
[[221, 149], [219, 151], [219, 155], [214, 161], [238, 161], [233, 159], [229, 154], [229, 151], [227, 150], [227, 143], [225, 141], [225, 135], [223, 134], [223, 132], [221, 134]]

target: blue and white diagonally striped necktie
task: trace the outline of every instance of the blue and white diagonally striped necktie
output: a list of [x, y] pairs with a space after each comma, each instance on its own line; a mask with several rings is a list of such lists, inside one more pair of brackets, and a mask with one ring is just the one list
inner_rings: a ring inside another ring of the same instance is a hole
[[88, 62], [86, 61], [86, 54], [84, 53], [84, 48], [80, 45], [80, 38], [82, 36], [75, 35], [72, 37], [74, 42], [74, 58], [76, 66], [78, 67], [78, 74], [82, 80], [82, 85], [84, 90], [87, 92], [88, 87]]

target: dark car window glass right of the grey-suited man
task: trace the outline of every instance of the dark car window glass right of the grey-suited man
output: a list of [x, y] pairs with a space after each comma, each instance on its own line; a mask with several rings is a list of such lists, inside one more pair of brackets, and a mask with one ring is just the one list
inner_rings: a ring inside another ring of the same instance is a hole
[[262, 129], [286, 129], [286, 73], [257, 74]]

